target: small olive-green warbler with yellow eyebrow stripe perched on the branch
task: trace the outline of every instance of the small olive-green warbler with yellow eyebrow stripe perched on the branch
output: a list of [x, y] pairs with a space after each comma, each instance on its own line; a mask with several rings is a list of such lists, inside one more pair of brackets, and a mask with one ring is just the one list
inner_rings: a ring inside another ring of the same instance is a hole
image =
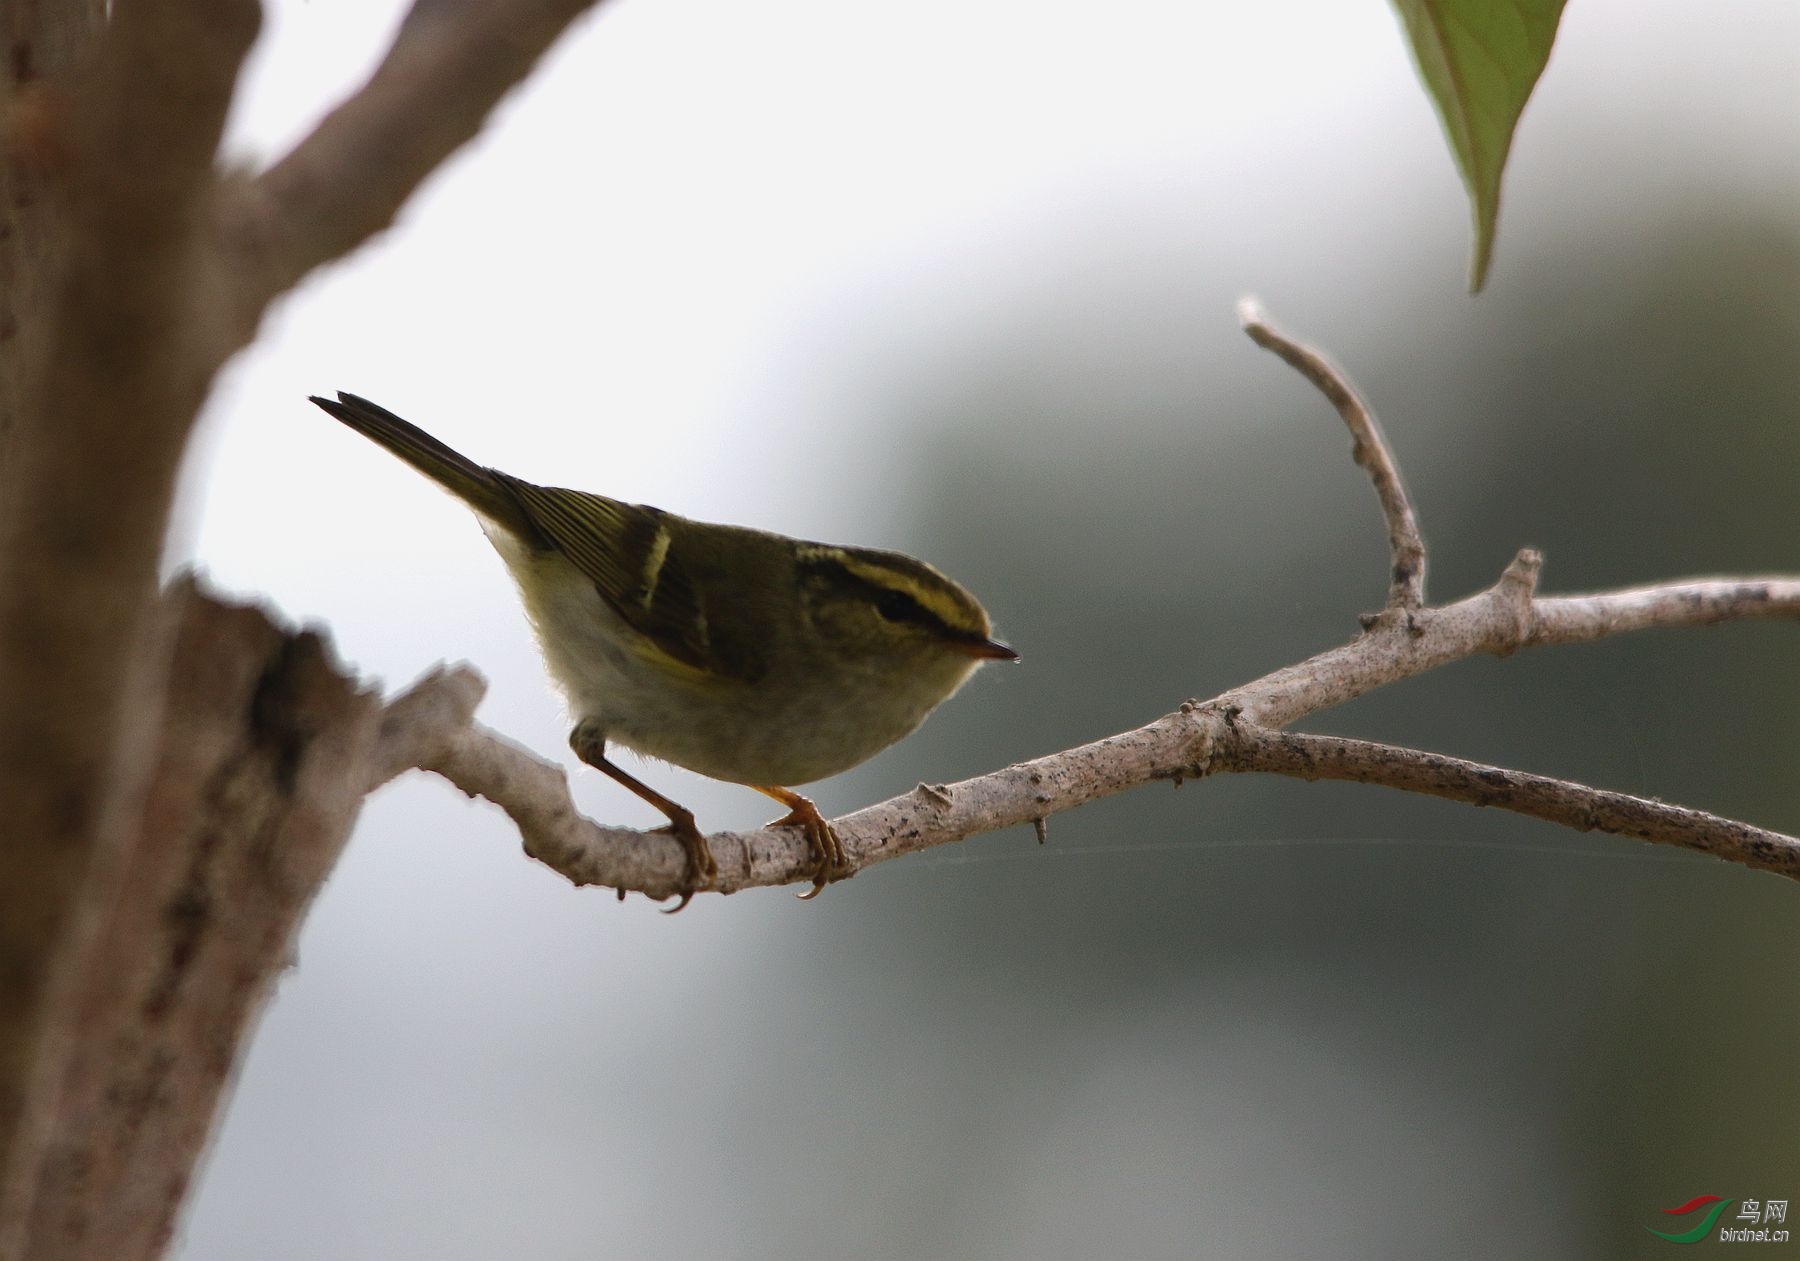
[[688, 853], [673, 910], [718, 867], [693, 815], [610, 763], [608, 743], [787, 806], [770, 826], [805, 831], [812, 898], [848, 871], [844, 849], [785, 784], [868, 761], [981, 662], [1019, 658], [974, 595], [911, 556], [535, 486], [355, 394], [311, 401], [475, 509], [576, 718], [571, 748], [662, 811]]

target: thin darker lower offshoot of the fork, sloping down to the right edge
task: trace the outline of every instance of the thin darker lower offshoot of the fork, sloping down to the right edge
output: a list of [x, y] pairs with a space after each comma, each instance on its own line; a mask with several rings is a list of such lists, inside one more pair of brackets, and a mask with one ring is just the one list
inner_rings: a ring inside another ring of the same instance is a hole
[[1337, 736], [1265, 730], [1240, 725], [1219, 770], [1262, 770], [1298, 779], [1343, 779], [1411, 793], [1447, 797], [1471, 806], [1496, 806], [1577, 831], [1606, 831], [1660, 845], [1697, 849], [1741, 867], [1800, 880], [1800, 838], [1751, 827], [1701, 809], [1613, 793], [1548, 775], [1528, 775]]

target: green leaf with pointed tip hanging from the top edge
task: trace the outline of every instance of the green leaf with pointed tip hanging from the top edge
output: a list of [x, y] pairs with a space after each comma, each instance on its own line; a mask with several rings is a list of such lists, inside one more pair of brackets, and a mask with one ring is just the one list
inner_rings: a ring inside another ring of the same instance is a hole
[[1550, 61], [1562, 0], [1393, 0], [1474, 210], [1469, 288], [1487, 281], [1499, 176], [1519, 113]]

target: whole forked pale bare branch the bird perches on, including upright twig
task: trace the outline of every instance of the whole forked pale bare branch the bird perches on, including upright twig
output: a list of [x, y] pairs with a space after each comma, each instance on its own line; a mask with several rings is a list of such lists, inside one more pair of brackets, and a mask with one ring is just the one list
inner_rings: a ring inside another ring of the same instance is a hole
[[[1393, 567], [1384, 615], [1296, 666], [1210, 702], [1186, 702], [1145, 727], [1107, 736], [958, 784], [914, 791], [833, 826], [855, 869], [965, 840], [1163, 779], [1271, 772], [1300, 779], [1354, 779], [1496, 806], [1580, 831], [1607, 831], [1715, 854], [1800, 878], [1800, 840], [1658, 800], [1544, 775], [1483, 766], [1413, 748], [1305, 736], [1280, 729], [1377, 687], [1478, 655], [1573, 644], [1652, 626], [1701, 626], [1748, 617], [1800, 619], [1800, 577], [1710, 577], [1589, 595], [1539, 595], [1541, 558], [1526, 549], [1485, 592], [1424, 604], [1426, 549], [1381, 426], [1323, 354], [1276, 333], [1253, 302], [1244, 327], [1292, 363], [1337, 408], [1357, 462], [1368, 470], [1388, 523]], [[473, 721], [481, 680], [466, 669], [436, 673], [387, 711], [374, 783], [418, 766], [472, 797], [497, 802], [526, 851], [578, 885], [608, 885], [652, 898], [677, 892], [686, 871], [679, 844], [659, 833], [601, 827], [581, 817], [562, 766]], [[373, 784], [371, 784], [373, 786]], [[715, 833], [718, 890], [805, 880], [810, 856], [794, 829]]]

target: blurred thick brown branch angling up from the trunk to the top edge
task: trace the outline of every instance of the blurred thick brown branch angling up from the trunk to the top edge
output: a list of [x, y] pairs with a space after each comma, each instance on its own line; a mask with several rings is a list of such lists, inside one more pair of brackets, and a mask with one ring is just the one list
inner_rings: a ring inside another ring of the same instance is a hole
[[416, 0], [374, 76], [225, 207], [245, 318], [387, 228], [599, 0]]

